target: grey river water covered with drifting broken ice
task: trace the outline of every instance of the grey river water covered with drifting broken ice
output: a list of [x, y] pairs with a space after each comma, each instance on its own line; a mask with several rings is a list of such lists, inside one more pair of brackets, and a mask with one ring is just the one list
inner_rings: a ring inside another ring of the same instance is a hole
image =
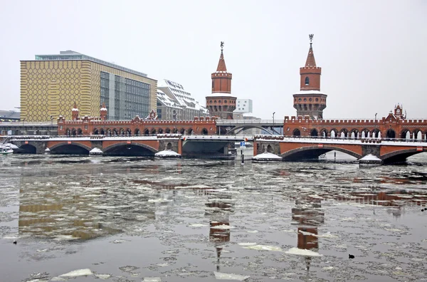
[[427, 281], [426, 155], [333, 158], [2, 157], [0, 281]]

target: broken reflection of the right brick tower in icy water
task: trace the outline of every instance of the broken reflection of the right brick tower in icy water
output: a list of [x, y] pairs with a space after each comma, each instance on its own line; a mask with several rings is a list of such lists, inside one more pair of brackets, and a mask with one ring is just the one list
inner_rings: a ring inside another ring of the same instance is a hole
[[[297, 224], [297, 248], [310, 251], [319, 251], [317, 226], [325, 221], [325, 213], [320, 197], [302, 197], [295, 200], [292, 208], [292, 221]], [[311, 256], [305, 256], [305, 266], [310, 270]]]

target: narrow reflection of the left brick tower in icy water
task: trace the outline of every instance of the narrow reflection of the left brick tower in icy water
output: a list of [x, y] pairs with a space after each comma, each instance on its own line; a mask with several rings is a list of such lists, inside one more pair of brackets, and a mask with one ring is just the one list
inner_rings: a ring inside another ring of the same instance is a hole
[[220, 271], [220, 258], [225, 242], [230, 241], [230, 214], [234, 212], [231, 195], [221, 192], [206, 192], [205, 216], [209, 217], [209, 241], [216, 249], [216, 271]]

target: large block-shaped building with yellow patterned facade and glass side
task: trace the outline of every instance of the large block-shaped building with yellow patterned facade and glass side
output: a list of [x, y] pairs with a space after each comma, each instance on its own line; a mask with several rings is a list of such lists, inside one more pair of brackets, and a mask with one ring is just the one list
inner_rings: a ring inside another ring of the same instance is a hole
[[156, 100], [157, 80], [75, 51], [21, 61], [21, 118], [27, 122], [70, 119], [74, 103], [83, 116], [97, 116], [105, 103], [108, 120], [130, 120], [147, 116]]

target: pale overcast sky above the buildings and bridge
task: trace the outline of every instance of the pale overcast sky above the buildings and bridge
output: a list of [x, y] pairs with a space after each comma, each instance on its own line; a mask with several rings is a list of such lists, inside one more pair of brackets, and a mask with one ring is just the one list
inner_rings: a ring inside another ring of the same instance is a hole
[[[374, 118], [401, 103], [427, 117], [427, 1], [3, 1], [1, 110], [20, 105], [20, 60], [73, 50], [180, 83], [202, 105], [220, 41], [232, 93], [255, 116], [295, 115], [314, 33], [325, 118]], [[71, 107], [71, 105], [70, 105]]]

